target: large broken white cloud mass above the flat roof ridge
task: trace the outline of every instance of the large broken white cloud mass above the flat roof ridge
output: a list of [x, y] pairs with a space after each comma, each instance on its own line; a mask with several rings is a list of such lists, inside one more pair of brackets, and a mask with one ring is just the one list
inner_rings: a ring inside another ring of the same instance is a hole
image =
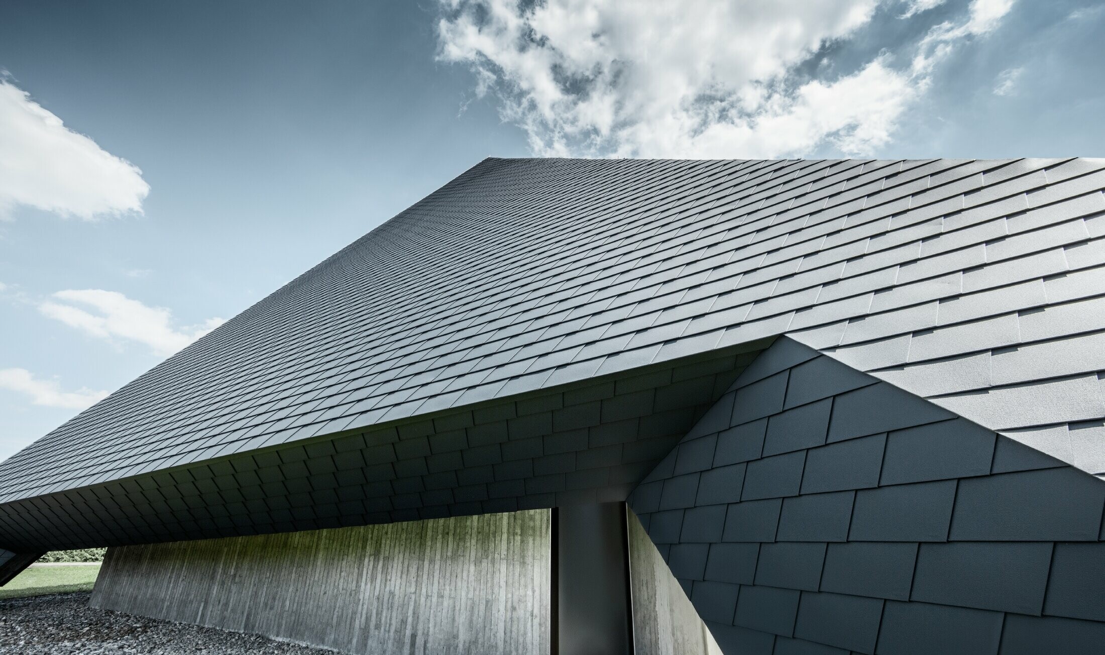
[[877, 151], [936, 64], [992, 31], [1011, 0], [974, 0], [914, 52], [819, 74], [818, 57], [870, 27], [881, 0], [441, 2], [439, 57], [469, 65], [537, 155], [759, 158]]

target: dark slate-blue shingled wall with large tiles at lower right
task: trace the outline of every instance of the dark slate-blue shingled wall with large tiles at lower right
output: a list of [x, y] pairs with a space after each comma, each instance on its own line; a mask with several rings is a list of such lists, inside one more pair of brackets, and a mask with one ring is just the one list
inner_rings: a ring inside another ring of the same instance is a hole
[[1105, 482], [786, 338], [717, 414], [629, 501], [726, 653], [1105, 643]]

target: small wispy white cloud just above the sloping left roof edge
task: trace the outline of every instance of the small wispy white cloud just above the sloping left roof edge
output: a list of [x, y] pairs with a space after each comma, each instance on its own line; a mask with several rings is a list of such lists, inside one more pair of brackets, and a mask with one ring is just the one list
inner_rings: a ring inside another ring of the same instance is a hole
[[144, 344], [161, 356], [177, 352], [223, 324], [221, 318], [209, 318], [202, 325], [173, 327], [169, 309], [149, 307], [118, 292], [69, 289], [52, 297], [39, 304], [45, 316], [94, 337]]

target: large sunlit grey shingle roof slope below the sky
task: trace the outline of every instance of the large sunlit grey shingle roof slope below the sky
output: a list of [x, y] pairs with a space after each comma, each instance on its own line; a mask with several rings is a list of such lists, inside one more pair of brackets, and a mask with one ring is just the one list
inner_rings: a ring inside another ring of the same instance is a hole
[[0, 465], [0, 501], [789, 334], [1105, 471], [1105, 160], [487, 159]]

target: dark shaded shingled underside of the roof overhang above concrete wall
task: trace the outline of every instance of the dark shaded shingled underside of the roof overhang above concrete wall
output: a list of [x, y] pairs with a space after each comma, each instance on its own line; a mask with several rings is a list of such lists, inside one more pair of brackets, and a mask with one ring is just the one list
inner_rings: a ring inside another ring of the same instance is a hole
[[684, 358], [11, 503], [0, 535], [41, 551], [623, 500], [755, 357]]

